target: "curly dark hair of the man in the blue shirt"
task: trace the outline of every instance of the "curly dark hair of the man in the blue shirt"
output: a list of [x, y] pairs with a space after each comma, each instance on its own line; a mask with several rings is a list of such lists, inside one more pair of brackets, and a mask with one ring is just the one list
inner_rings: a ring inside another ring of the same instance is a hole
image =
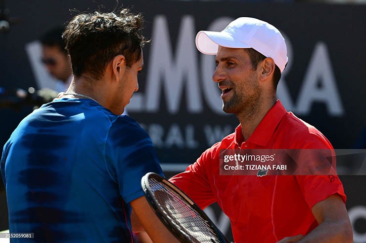
[[131, 67], [141, 57], [146, 41], [141, 34], [143, 18], [129, 9], [119, 13], [81, 13], [66, 26], [62, 37], [71, 57], [76, 77], [98, 80], [107, 64], [117, 55], [124, 55]]

